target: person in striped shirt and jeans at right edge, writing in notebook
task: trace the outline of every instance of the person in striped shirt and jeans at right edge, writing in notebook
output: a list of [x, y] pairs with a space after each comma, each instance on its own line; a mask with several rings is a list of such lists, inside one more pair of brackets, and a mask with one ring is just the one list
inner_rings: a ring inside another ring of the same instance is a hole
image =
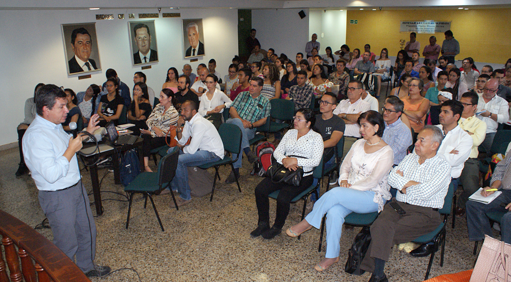
[[509, 212], [511, 208], [511, 179], [509, 173], [505, 173], [510, 169], [510, 160], [511, 155], [506, 155], [502, 161], [497, 163], [490, 186], [484, 187], [484, 191], [481, 192], [482, 196], [488, 197], [495, 193], [495, 191], [488, 191], [489, 189], [498, 189], [502, 192], [499, 197], [487, 205], [476, 201], [467, 202], [467, 227], [470, 241], [483, 241], [484, 235], [494, 236], [490, 219], [486, 213], [498, 211], [505, 212], [500, 220], [500, 240], [511, 244], [511, 226], [509, 225], [511, 224], [511, 212]]

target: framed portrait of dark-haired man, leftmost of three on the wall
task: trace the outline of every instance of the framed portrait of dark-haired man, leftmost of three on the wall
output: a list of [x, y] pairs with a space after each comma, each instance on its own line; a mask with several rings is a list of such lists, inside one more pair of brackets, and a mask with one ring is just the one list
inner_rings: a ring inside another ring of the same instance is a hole
[[67, 75], [100, 71], [96, 23], [61, 26]]

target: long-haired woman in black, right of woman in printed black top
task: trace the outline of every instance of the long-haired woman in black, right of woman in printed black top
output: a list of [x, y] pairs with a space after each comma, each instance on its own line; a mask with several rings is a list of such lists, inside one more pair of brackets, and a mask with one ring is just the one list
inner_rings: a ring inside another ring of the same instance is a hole
[[151, 115], [152, 107], [149, 104], [149, 94], [147, 84], [137, 82], [133, 86], [133, 101], [131, 101], [128, 110], [128, 120], [135, 126], [130, 127], [134, 135], [140, 135], [141, 129], [149, 129], [146, 120]]

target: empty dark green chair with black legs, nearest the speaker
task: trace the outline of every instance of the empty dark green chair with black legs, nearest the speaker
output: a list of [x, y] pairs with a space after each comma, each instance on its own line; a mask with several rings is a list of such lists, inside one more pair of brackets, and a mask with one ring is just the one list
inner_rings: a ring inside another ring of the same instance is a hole
[[135, 193], [141, 193], [145, 196], [144, 208], [147, 206], [147, 198], [151, 200], [151, 204], [153, 205], [154, 213], [156, 214], [156, 218], [158, 219], [158, 223], [161, 227], [161, 231], [165, 231], [163, 225], [161, 224], [161, 220], [158, 215], [158, 211], [156, 210], [156, 206], [154, 205], [152, 195], [158, 195], [162, 190], [169, 187], [172, 200], [176, 205], [176, 210], [179, 210], [179, 207], [176, 203], [176, 198], [174, 197], [174, 192], [170, 188], [170, 182], [176, 175], [177, 168], [177, 160], [179, 158], [179, 148], [175, 147], [172, 153], [168, 154], [164, 158], [161, 159], [158, 165], [157, 172], [142, 172], [140, 175], [137, 175], [136, 178], [131, 181], [131, 183], [124, 188], [124, 191], [129, 194], [129, 205], [128, 205], [128, 218], [126, 219], [126, 229], [128, 229], [129, 225], [129, 215], [131, 212], [131, 203], [133, 200], [133, 195]]

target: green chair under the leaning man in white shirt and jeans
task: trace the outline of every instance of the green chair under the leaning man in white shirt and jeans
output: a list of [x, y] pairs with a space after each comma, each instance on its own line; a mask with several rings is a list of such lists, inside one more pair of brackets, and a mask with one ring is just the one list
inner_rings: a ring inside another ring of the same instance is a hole
[[[220, 125], [220, 128], [218, 128], [218, 134], [220, 134], [220, 138], [222, 139], [224, 149], [231, 154], [237, 154], [237, 157], [236, 159], [233, 160], [231, 157], [224, 156], [223, 159], [219, 161], [206, 163], [198, 166], [201, 169], [208, 169], [210, 167], [215, 168], [215, 177], [213, 180], [213, 189], [211, 190], [210, 202], [213, 201], [213, 194], [215, 193], [215, 185], [217, 182], [217, 178], [220, 179], [220, 176], [218, 174], [218, 168], [221, 165], [230, 164], [231, 168], [234, 171], [234, 163], [238, 160], [238, 158], [241, 158], [241, 154], [243, 153], [241, 151], [242, 134], [240, 127], [230, 123], [223, 123]], [[241, 193], [240, 183], [238, 182], [238, 177], [236, 176], [236, 173], [234, 174], [234, 177], [236, 179], [236, 184], [238, 184], [238, 190]]]

